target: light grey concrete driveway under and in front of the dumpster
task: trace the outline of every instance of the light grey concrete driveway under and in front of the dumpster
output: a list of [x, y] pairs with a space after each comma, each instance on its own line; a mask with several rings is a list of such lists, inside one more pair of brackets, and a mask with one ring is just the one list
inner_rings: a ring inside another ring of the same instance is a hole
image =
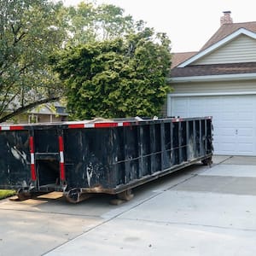
[[214, 156], [109, 204], [0, 201], [0, 255], [256, 255], [256, 158]]

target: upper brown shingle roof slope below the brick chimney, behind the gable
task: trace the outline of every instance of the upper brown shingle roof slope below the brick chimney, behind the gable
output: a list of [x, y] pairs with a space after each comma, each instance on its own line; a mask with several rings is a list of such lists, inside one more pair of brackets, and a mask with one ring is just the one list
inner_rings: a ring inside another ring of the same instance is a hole
[[[245, 28], [248, 31], [256, 32], [256, 21], [242, 22], [242, 23], [229, 23], [219, 27], [218, 31], [210, 38], [207, 43], [201, 48], [207, 49], [212, 44], [218, 43], [221, 39], [229, 36], [231, 33], [236, 32], [240, 28]], [[200, 51], [201, 51], [200, 50]]]

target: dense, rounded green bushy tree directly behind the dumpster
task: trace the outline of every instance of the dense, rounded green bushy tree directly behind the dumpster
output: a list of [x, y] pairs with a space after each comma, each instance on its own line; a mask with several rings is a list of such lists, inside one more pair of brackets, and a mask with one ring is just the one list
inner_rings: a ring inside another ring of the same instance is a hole
[[68, 48], [55, 59], [74, 119], [159, 114], [170, 87], [170, 41], [144, 28], [125, 38]]

